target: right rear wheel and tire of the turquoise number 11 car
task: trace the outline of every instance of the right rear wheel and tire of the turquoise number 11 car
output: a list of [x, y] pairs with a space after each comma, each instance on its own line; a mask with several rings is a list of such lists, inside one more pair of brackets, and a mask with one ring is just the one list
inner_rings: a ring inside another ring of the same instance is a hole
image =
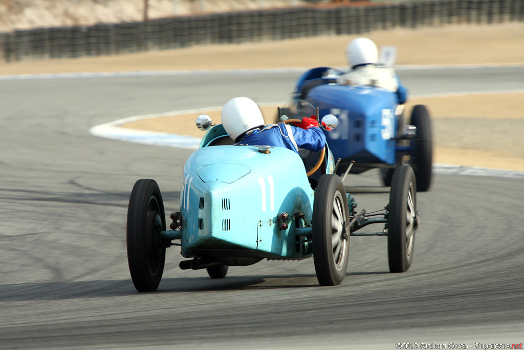
[[[337, 225], [333, 218], [339, 219]], [[313, 200], [312, 222], [313, 260], [320, 285], [337, 285], [344, 279], [350, 251], [349, 218], [341, 178], [334, 174], [320, 176]], [[337, 243], [335, 247], [333, 241]]]

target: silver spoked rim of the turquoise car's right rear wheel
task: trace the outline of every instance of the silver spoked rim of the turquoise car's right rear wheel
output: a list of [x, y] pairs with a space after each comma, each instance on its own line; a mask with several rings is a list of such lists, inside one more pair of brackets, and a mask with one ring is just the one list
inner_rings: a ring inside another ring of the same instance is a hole
[[333, 249], [333, 261], [337, 271], [342, 270], [347, 254], [346, 239], [344, 239], [344, 227], [346, 226], [344, 201], [340, 192], [337, 192], [333, 200], [331, 210], [331, 247]]

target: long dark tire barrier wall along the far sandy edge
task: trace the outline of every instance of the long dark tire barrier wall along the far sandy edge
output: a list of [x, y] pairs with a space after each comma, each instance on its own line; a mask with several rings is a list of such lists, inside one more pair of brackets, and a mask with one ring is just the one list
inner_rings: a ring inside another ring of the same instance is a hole
[[293, 7], [120, 24], [0, 33], [6, 62], [74, 58], [206, 44], [245, 43], [376, 29], [524, 20], [524, 0], [430, 0], [367, 6]]

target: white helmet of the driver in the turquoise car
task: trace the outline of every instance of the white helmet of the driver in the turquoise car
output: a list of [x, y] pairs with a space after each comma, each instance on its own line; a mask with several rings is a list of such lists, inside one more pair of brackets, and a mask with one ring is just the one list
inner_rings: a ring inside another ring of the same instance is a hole
[[264, 118], [253, 100], [247, 97], [235, 97], [222, 107], [222, 125], [235, 142], [246, 132], [262, 128]]

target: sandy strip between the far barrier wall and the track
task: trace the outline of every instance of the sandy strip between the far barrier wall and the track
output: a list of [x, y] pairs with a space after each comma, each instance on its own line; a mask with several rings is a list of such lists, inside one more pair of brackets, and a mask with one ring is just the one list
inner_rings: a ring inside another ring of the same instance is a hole
[[[137, 54], [43, 61], [0, 62], [0, 74], [132, 70], [238, 69], [345, 66], [355, 35], [322, 36], [236, 45], [210, 45]], [[398, 49], [398, 65], [523, 63], [524, 22], [447, 25], [374, 31], [377, 46]]]

